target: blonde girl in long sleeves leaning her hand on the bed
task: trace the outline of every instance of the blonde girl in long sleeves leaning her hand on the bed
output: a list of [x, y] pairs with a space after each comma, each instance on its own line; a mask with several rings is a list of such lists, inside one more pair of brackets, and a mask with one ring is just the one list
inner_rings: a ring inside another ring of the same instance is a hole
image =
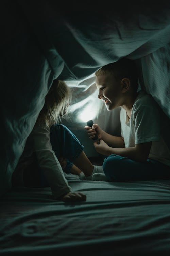
[[63, 170], [78, 175], [83, 172], [86, 177], [100, 171], [89, 161], [75, 135], [57, 124], [69, 100], [69, 87], [64, 81], [54, 80], [13, 173], [13, 186], [50, 186], [56, 200], [86, 201], [85, 194], [72, 191]]

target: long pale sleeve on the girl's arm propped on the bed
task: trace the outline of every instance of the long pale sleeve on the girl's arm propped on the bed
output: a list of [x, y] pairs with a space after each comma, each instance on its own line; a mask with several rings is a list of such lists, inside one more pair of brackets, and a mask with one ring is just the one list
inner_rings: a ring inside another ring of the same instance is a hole
[[31, 133], [34, 152], [55, 199], [72, 191], [50, 143], [50, 128], [36, 124]]

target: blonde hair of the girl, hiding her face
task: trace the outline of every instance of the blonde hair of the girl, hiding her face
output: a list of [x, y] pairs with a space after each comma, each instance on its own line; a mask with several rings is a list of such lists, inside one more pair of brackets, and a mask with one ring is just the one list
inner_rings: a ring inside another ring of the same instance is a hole
[[61, 121], [67, 113], [71, 100], [71, 90], [64, 81], [55, 79], [46, 95], [43, 109], [40, 111], [38, 121], [50, 127]]

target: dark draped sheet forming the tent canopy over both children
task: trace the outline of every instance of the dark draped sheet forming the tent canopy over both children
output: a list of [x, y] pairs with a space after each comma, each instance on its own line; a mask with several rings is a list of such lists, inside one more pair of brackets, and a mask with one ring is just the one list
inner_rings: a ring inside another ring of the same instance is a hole
[[127, 56], [138, 61], [141, 73], [150, 70], [145, 82], [155, 84], [151, 94], [170, 117], [169, 1], [121, 2], [101, 12], [60, 11], [52, 0], [7, 0], [0, 11], [1, 195], [11, 188], [12, 173], [54, 78], [88, 79], [101, 66]]

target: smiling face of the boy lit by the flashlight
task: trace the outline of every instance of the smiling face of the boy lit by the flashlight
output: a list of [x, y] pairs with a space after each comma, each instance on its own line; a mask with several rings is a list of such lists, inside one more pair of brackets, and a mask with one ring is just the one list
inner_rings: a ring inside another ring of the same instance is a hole
[[112, 74], [105, 74], [97, 76], [95, 83], [99, 89], [98, 98], [105, 103], [107, 110], [123, 104], [121, 80], [116, 80]]

